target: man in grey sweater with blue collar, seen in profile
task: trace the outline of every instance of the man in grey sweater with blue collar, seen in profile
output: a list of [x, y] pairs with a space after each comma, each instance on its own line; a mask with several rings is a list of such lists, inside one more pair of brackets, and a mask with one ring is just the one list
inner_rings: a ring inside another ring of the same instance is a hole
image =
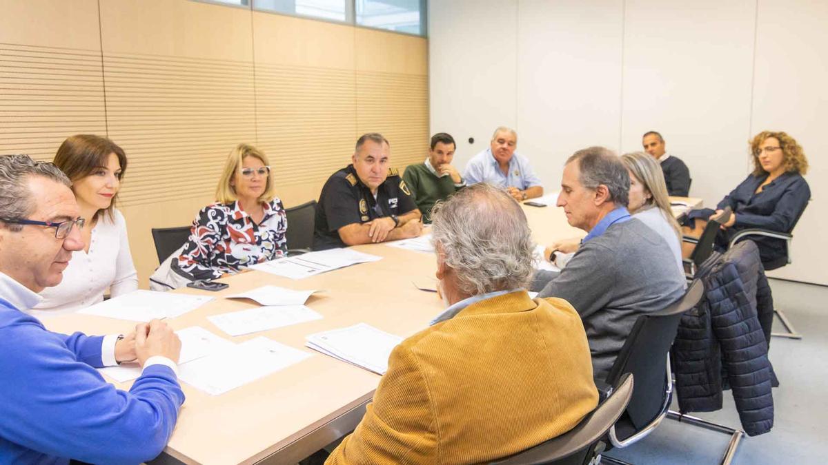
[[[564, 167], [557, 205], [588, 232], [560, 273], [537, 271], [532, 290], [578, 311], [590, 341], [595, 379], [605, 379], [638, 315], [684, 294], [667, 242], [627, 211], [629, 176], [604, 147], [576, 151]], [[553, 252], [554, 253], [554, 252]]]

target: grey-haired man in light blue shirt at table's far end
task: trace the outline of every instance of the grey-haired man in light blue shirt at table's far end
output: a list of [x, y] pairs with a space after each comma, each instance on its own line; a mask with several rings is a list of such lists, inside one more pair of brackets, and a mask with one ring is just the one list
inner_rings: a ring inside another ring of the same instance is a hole
[[498, 127], [488, 149], [469, 160], [463, 177], [468, 185], [479, 182], [507, 189], [512, 197], [521, 202], [543, 195], [541, 180], [532, 170], [527, 157], [518, 154], [517, 132], [508, 127]]

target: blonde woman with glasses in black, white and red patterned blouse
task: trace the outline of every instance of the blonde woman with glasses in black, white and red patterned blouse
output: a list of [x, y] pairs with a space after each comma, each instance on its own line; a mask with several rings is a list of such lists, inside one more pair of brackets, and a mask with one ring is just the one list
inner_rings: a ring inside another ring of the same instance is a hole
[[216, 203], [201, 209], [172, 271], [189, 280], [231, 275], [287, 254], [287, 219], [267, 156], [239, 144], [227, 158]]

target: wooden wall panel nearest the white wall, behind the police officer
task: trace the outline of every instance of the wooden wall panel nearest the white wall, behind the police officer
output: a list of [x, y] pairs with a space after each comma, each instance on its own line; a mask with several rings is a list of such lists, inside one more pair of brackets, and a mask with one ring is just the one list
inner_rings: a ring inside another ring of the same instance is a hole
[[403, 168], [428, 153], [428, 41], [355, 30], [357, 132], [382, 132], [392, 165]]

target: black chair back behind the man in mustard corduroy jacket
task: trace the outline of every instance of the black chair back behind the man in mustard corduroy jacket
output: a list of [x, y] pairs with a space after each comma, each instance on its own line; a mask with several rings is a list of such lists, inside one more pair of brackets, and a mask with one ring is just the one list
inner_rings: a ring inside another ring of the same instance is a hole
[[601, 402], [575, 428], [522, 453], [493, 462], [492, 465], [585, 465], [599, 463], [605, 444], [601, 441], [619, 419], [633, 396], [633, 376], [619, 378], [607, 400]]

